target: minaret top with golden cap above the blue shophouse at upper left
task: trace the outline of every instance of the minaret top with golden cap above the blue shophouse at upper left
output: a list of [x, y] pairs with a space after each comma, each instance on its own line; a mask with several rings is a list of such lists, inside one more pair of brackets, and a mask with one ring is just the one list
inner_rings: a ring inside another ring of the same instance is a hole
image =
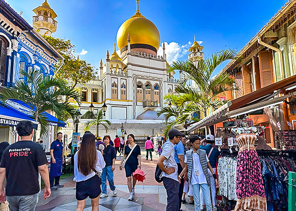
[[33, 16], [33, 27], [39, 30], [41, 35], [51, 36], [56, 31], [57, 22], [54, 19], [57, 15], [50, 8], [47, 0], [41, 6], [35, 8], [33, 12], [36, 14], [36, 16]]

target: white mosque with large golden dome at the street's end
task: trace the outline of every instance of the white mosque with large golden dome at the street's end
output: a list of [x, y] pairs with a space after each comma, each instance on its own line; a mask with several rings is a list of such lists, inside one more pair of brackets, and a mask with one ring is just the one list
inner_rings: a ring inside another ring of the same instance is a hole
[[[53, 30], [41, 23], [33, 26], [50, 34], [56, 30], [56, 25]], [[161, 44], [155, 24], [140, 13], [139, 0], [136, 0], [135, 14], [118, 29], [116, 41], [120, 55], [114, 43], [114, 51], [110, 55], [107, 50], [104, 64], [101, 59], [97, 79], [78, 85], [81, 89], [80, 112], [84, 115], [92, 110], [96, 115], [105, 108], [104, 119], [111, 122], [107, 134], [111, 137], [123, 135], [123, 132], [135, 135], [161, 133], [165, 127], [164, 118], [157, 117], [156, 112], [165, 105], [164, 96], [174, 92], [179, 79], [174, 78], [175, 72], [167, 73], [169, 64], [164, 42]], [[157, 54], [160, 47], [163, 48], [162, 55]], [[203, 57], [202, 47], [196, 41], [189, 50], [190, 60]], [[83, 117], [78, 127], [81, 133], [89, 121]], [[72, 120], [68, 123], [69, 127], [63, 132], [70, 137], [75, 127]], [[93, 126], [90, 131], [94, 134], [99, 131], [99, 136], [103, 136], [106, 134], [103, 129]]]

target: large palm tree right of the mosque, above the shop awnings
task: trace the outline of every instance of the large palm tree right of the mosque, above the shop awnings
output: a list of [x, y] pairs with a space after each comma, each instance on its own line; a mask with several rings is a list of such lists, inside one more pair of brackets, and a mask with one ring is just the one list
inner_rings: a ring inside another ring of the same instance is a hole
[[[214, 53], [207, 59], [197, 62], [176, 61], [173, 62], [169, 71], [180, 70], [184, 74], [184, 81], [181, 81], [175, 91], [180, 95], [175, 100], [178, 106], [191, 102], [196, 105], [204, 117], [209, 108], [216, 110], [226, 101], [216, 98], [220, 93], [237, 89], [235, 80], [227, 72], [220, 72], [213, 76], [215, 68], [227, 60], [238, 60], [235, 50], [223, 50]], [[186, 84], [188, 80], [195, 82], [195, 87]]]

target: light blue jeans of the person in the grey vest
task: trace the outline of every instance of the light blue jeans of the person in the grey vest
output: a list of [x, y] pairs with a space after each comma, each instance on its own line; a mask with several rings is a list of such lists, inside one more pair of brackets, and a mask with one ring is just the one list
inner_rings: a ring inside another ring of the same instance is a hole
[[194, 208], [195, 211], [200, 211], [200, 198], [199, 191], [202, 190], [204, 201], [206, 205], [206, 210], [212, 210], [211, 196], [208, 184], [194, 184], [193, 188], [193, 197], [194, 197]]

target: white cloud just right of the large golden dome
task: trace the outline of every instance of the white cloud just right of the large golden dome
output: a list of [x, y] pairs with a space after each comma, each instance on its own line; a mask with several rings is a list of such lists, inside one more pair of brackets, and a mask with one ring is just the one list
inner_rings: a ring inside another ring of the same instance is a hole
[[[199, 44], [202, 43], [202, 41], [198, 41]], [[162, 44], [163, 45], [163, 44]], [[158, 49], [158, 55], [162, 56], [163, 55], [163, 46], [160, 46]], [[187, 59], [187, 55], [189, 54], [188, 49], [191, 47], [192, 43], [189, 41], [187, 44], [182, 45], [176, 42], [171, 42], [167, 43], [165, 42], [165, 47], [166, 47], [166, 54], [167, 54], [167, 62], [169, 64], [172, 63], [172, 61], [177, 61], [177, 60], [185, 60]], [[186, 58], [185, 58], [186, 56]]]

